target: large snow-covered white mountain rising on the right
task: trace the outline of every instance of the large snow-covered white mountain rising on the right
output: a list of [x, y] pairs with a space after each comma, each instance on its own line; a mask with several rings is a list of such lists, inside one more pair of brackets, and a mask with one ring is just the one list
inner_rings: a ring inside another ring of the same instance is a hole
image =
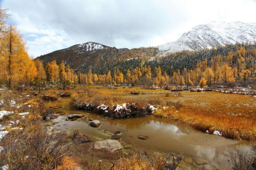
[[183, 50], [199, 51], [218, 45], [256, 41], [256, 23], [211, 22], [197, 25], [173, 42], [159, 45], [161, 55]]

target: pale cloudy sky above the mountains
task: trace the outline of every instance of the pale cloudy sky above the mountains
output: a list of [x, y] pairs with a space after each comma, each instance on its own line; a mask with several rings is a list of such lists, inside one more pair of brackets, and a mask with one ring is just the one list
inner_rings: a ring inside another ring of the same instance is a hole
[[256, 22], [256, 0], [0, 0], [34, 57], [74, 44], [157, 46], [211, 21]]

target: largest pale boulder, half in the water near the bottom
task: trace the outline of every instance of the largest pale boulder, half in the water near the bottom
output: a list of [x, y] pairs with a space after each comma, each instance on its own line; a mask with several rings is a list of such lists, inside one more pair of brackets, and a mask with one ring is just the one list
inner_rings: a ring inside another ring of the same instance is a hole
[[117, 140], [102, 140], [84, 145], [86, 153], [95, 153], [100, 158], [117, 159], [123, 156], [122, 145]]

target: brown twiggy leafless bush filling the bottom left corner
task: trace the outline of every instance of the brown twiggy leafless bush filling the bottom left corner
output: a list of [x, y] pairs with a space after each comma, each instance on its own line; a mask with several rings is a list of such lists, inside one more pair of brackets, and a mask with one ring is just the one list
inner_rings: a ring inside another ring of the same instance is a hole
[[47, 134], [36, 116], [29, 116], [20, 125], [24, 130], [10, 133], [2, 139], [0, 167], [8, 165], [9, 169], [53, 169], [70, 153], [66, 136], [62, 135], [58, 141], [54, 141], [54, 135]]

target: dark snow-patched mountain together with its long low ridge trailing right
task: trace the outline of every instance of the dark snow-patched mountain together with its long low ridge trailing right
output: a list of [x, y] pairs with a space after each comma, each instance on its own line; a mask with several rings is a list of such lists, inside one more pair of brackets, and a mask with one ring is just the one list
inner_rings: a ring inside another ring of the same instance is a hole
[[102, 72], [108, 71], [108, 66], [116, 64], [118, 61], [126, 61], [132, 58], [147, 59], [156, 56], [159, 53], [157, 48], [136, 48], [136, 49], [116, 49], [97, 42], [86, 42], [76, 44], [69, 48], [57, 50], [49, 54], [41, 55], [38, 58], [44, 64], [56, 60], [59, 64], [65, 61], [65, 64], [70, 65], [70, 68], [76, 72], [87, 72], [91, 67], [93, 71]]

